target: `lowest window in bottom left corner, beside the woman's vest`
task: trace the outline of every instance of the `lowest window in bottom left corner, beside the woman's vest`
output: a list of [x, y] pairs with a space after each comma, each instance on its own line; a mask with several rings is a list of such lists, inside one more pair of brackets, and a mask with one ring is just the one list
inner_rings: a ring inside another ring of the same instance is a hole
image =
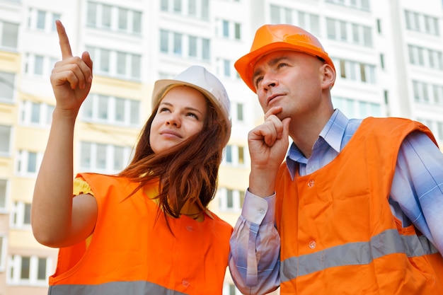
[[8, 259], [7, 282], [11, 285], [46, 286], [52, 259], [12, 255]]

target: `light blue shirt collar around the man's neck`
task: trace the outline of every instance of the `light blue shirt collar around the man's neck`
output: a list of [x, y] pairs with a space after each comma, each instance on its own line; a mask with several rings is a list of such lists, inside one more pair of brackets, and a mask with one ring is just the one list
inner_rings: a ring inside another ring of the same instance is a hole
[[[343, 114], [343, 112], [340, 112], [340, 110], [335, 109], [333, 115], [330, 116], [325, 127], [323, 127], [323, 129], [321, 130], [317, 140], [326, 141], [326, 144], [331, 146], [333, 149], [335, 149], [335, 151], [339, 153], [348, 122], [349, 119], [345, 116], [345, 114]], [[294, 180], [297, 163], [306, 164], [308, 163], [308, 159], [304, 156], [304, 154], [301, 153], [300, 149], [294, 143], [292, 143], [286, 158], [286, 165], [289, 169], [292, 180]]]

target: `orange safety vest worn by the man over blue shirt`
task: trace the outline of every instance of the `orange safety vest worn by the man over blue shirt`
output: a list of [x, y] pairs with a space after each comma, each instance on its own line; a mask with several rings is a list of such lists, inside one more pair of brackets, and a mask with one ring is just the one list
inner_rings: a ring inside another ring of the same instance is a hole
[[327, 166], [277, 176], [281, 294], [443, 294], [443, 258], [389, 207], [403, 139], [429, 129], [403, 119], [363, 120]]

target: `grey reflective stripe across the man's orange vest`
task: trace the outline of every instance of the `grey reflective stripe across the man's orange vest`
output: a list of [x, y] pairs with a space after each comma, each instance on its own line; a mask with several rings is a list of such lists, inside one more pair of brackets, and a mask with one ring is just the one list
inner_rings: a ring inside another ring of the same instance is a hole
[[329, 267], [367, 265], [372, 260], [393, 253], [405, 253], [409, 258], [438, 253], [425, 236], [403, 236], [389, 229], [371, 238], [369, 242], [347, 243], [316, 253], [291, 257], [280, 264], [280, 279], [287, 282]]

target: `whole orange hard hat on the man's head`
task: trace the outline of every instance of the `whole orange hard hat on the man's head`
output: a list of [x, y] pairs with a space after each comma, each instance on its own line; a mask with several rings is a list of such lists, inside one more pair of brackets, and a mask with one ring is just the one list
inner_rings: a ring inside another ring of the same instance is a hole
[[311, 54], [322, 59], [326, 64], [335, 66], [320, 41], [308, 31], [295, 25], [263, 25], [255, 33], [251, 51], [234, 64], [241, 79], [255, 92], [252, 75], [255, 63], [265, 54], [277, 50], [294, 50]]

